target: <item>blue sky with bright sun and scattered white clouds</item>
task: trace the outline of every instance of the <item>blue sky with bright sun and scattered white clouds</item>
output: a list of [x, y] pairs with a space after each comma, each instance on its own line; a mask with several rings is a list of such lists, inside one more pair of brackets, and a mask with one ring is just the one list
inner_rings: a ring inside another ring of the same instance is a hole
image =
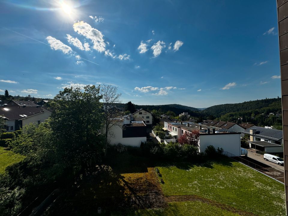
[[10, 0], [0, 23], [0, 94], [101, 83], [124, 103], [192, 107], [281, 94], [276, 1]]

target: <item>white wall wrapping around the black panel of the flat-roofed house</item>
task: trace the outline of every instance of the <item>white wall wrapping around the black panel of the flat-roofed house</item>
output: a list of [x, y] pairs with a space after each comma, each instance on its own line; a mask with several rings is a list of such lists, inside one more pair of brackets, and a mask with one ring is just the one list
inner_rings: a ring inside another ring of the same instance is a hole
[[[136, 146], [140, 147], [141, 142], [146, 142], [146, 136], [145, 137], [126, 137], [123, 138], [123, 130], [121, 127], [114, 125], [110, 129], [113, 133], [108, 134], [108, 140], [110, 141], [111, 145], [117, 145], [118, 143], [121, 143], [125, 146]], [[145, 129], [146, 131], [146, 129]]]

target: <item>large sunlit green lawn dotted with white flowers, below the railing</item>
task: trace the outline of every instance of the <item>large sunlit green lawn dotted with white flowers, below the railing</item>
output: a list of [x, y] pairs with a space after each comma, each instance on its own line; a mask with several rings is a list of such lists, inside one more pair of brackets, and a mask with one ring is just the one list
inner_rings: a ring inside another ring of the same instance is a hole
[[158, 169], [165, 196], [197, 195], [256, 215], [285, 215], [284, 185], [229, 158]]

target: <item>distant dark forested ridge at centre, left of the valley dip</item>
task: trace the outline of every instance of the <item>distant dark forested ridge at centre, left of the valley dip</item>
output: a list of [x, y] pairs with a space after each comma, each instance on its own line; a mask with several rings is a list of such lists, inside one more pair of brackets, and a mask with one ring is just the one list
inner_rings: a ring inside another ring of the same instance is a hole
[[146, 110], [162, 110], [163, 113], [166, 113], [167, 111], [172, 111], [174, 113], [176, 113], [176, 115], [179, 115], [180, 113], [183, 112], [191, 112], [191, 111], [197, 111], [199, 112], [200, 110], [198, 110], [197, 108], [194, 107], [188, 107], [188, 106], [184, 106], [184, 105], [180, 105], [180, 104], [166, 104], [166, 105], [136, 105], [135, 104], [135, 108], [136, 109], [146, 109]]

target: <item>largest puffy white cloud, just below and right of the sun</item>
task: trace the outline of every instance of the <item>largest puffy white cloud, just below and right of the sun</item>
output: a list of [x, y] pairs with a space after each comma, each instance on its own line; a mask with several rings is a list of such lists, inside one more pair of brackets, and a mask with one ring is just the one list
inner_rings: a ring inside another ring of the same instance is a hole
[[90, 39], [93, 42], [93, 49], [96, 49], [98, 52], [105, 51], [106, 44], [102, 32], [92, 28], [88, 23], [83, 21], [74, 22], [73, 29], [78, 34]]

